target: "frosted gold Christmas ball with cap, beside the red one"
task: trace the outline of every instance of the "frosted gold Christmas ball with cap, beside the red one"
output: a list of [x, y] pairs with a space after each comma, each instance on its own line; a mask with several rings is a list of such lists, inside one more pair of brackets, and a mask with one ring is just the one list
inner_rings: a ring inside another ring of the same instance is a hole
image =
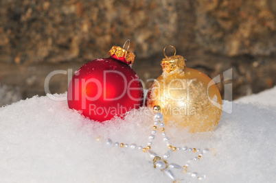
[[222, 99], [216, 84], [204, 73], [187, 68], [183, 56], [161, 62], [162, 75], [148, 91], [146, 106], [159, 106], [168, 125], [185, 127], [189, 132], [215, 130], [222, 112]]

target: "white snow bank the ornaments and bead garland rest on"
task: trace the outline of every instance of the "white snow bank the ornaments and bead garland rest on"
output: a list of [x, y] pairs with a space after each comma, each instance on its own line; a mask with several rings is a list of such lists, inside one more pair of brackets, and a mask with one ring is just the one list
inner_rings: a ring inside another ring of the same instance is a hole
[[[177, 127], [166, 127], [166, 132], [176, 146], [212, 149], [189, 167], [206, 175], [202, 182], [275, 182], [275, 93], [276, 87], [238, 102], [224, 101], [224, 108], [232, 105], [233, 111], [222, 113], [214, 132], [189, 134]], [[145, 146], [152, 116], [144, 112], [141, 108], [126, 119], [93, 123], [69, 110], [67, 101], [47, 96], [2, 107], [0, 182], [171, 182], [141, 150], [104, 143], [111, 138]], [[160, 138], [152, 148], [157, 154], [165, 153]], [[184, 165], [188, 156], [176, 151], [170, 161]], [[187, 174], [181, 178], [199, 182]]]

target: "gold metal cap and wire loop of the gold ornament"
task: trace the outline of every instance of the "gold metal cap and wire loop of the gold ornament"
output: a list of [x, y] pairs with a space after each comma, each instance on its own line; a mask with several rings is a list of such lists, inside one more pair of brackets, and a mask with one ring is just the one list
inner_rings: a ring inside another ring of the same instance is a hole
[[[165, 55], [165, 49], [167, 47], [172, 47], [174, 49], [174, 56], [166, 56]], [[170, 73], [171, 71], [175, 71], [176, 69], [184, 69], [186, 67], [185, 59], [183, 56], [176, 56], [176, 49], [172, 45], [167, 45], [163, 49], [163, 53], [165, 58], [161, 61], [161, 66], [163, 71], [166, 71], [167, 73]]]

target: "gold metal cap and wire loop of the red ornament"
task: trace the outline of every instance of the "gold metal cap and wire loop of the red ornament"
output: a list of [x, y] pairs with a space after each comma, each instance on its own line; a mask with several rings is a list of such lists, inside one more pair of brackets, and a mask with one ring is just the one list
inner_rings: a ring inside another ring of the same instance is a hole
[[[130, 40], [126, 40], [126, 42], [129, 42], [128, 48], [130, 46]], [[113, 46], [111, 50], [109, 50], [108, 55], [111, 57], [120, 60], [122, 62], [125, 62], [126, 64], [133, 64], [135, 54], [131, 51], [128, 51], [128, 49], [124, 49], [126, 42], [124, 42], [124, 46], [118, 47], [118, 46]]]

